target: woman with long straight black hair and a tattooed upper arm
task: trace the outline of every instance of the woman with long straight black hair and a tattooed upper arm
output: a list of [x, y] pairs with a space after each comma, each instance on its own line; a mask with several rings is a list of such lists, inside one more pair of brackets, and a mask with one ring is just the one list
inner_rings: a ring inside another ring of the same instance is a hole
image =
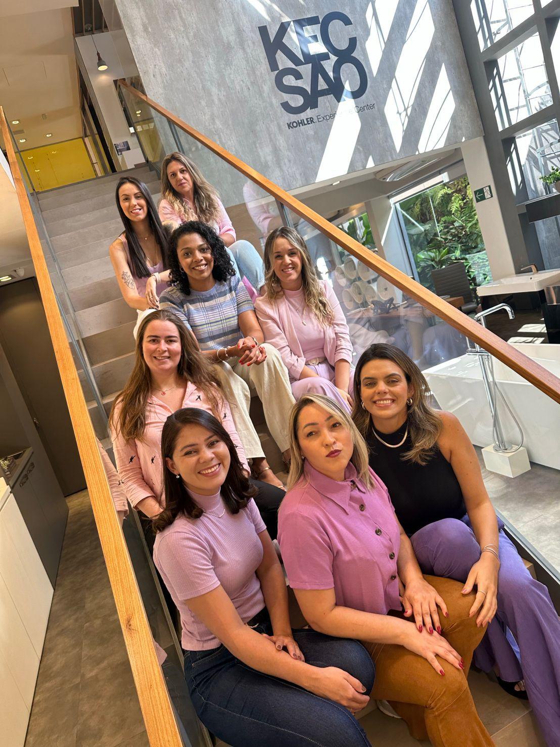
[[145, 314], [159, 308], [169, 282], [167, 233], [148, 187], [139, 179], [122, 176], [115, 201], [125, 230], [109, 247], [109, 256], [122, 297], [138, 311], [136, 336]]

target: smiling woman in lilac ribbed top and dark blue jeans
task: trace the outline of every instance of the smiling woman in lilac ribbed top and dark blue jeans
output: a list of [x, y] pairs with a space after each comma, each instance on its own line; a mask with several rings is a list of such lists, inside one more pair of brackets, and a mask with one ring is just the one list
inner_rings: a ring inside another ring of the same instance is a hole
[[353, 714], [369, 700], [370, 657], [358, 642], [291, 629], [284, 573], [223, 426], [178, 410], [161, 459], [154, 562], [181, 614], [199, 719], [232, 747], [367, 747]]

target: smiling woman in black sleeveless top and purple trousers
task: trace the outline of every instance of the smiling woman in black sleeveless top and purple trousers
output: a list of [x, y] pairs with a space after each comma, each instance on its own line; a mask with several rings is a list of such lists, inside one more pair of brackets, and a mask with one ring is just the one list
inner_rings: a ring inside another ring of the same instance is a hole
[[[367, 440], [370, 466], [384, 480], [411, 536], [420, 568], [464, 582], [465, 593], [476, 587], [470, 614], [488, 625], [488, 632], [474, 663], [486, 672], [496, 669], [512, 695], [529, 695], [547, 743], [556, 744], [558, 615], [547, 588], [531, 577], [503, 532], [463, 427], [455, 415], [429, 402], [426, 379], [399, 348], [374, 344], [362, 353], [352, 418]], [[506, 638], [508, 628], [518, 648]]]

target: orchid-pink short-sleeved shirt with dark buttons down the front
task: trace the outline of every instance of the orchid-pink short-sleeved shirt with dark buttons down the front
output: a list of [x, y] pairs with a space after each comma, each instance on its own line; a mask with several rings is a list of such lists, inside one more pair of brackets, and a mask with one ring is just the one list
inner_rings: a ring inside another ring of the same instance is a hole
[[281, 503], [278, 540], [293, 589], [335, 589], [339, 607], [385, 615], [400, 610], [396, 560], [399, 525], [387, 488], [349, 464], [331, 480], [305, 462], [301, 480]]

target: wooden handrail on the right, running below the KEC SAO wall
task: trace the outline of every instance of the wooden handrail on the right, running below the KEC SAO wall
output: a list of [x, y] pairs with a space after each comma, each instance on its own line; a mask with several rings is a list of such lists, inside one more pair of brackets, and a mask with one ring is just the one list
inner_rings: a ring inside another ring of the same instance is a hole
[[544, 394], [547, 394], [548, 397], [560, 403], [560, 379], [554, 376], [553, 373], [535, 363], [528, 356], [520, 353], [519, 350], [511, 347], [510, 344], [497, 335], [494, 335], [494, 332], [476, 323], [467, 314], [463, 314], [462, 311], [455, 309], [439, 296], [436, 296], [435, 293], [429, 291], [428, 288], [424, 288], [423, 285], [409, 278], [401, 270], [397, 270], [386, 259], [362, 247], [358, 241], [345, 234], [337, 226], [333, 226], [326, 218], [323, 218], [320, 214], [308, 208], [307, 205], [304, 205], [303, 202], [300, 202], [299, 199], [290, 195], [290, 193], [283, 190], [274, 182], [271, 182], [270, 179], [255, 171], [255, 169], [252, 169], [241, 161], [240, 158], [237, 158], [222, 146], [214, 143], [214, 140], [210, 140], [209, 137], [187, 125], [179, 117], [176, 117], [175, 114], [172, 114], [172, 112], [153, 101], [153, 99], [150, 99], [149, 96], [146, 96], [145, 93], [140, 93], [139, 90], [129, 85], [125, 80], [119, 80], [119, 84], [134, 96], [137, 96], [138, 99], [151, 106], [159, 114], [166, 117], [176, 127], [208, 148], [208, 150], [211, 150], [211, 152], [219, 156], [227, 164], [234, 167], [243, 176], [251, 179], [256, 185], [264, 189], [275, 199], [278, 199], [285, 207], [298, 214], [299, 217], [304, 218], [308, 223], [311, 223], [312, 226], [315, 226], [323, 235], [332, 239], [339, 247], [345, 249], [346, 252], [349, 252], [349, 254], [367, 265], [367, 267], [370, 267], [371, 270], [389, 280], [397, 288], [400, 288], [401, 291], [404, 291], [405, 294], [414, 298], [414, 300], [426, 309], [429, 309], [429, 311], [440, 317], [440, 319], [458, 329], [467, 338], [478, 343], [480, 347], [488, 350], [488, 353], [491, 353], [491, 355], [505, 363], [513, 371], [519, 373], [520, 376], [523, 376], [523, 379], [526, 379], [526, 381], [540, 389]]

